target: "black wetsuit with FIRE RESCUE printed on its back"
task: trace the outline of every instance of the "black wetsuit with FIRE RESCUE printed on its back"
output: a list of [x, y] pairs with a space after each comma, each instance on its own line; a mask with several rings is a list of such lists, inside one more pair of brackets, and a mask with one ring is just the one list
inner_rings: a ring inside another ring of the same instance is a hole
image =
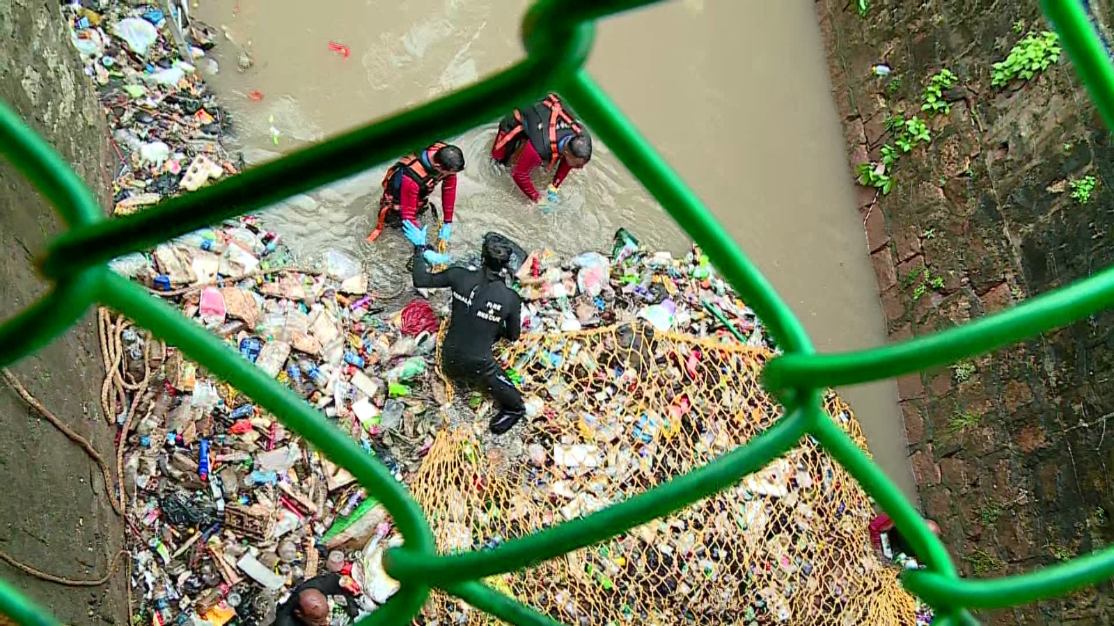
[[490, 392], [499, 403], [499, 412], [489, 428], [496, 434], [507, 432], [526, 414], [526, 405], [522, 394], [495, 362], [491, 346], [500, 335], [518, 340], [522, 302], [488, 268], [449, 267], [431, 274], [422, 252], [424, 247], [414, 248], [414, 286], [452, 288], [452, 317], [441, 345], [441, 370], [455, 381]]

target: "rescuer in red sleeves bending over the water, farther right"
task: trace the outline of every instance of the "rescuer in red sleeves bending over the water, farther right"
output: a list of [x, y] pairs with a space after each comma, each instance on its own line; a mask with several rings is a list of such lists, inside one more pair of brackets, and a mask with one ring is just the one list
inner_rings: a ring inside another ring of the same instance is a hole
[[[557, 189], [573, 169], [592, 159], [592, 137], [584, 125], [573, 117], [556, 94], [525, 109], [515, 109], [499, 123], [499, 133], [491, 146], [491, 159], [509, 166], [510, 177], [530, 200], [540, 204], [543, 213], [559, 202]], [[530, 174], [537, 167], [551, 169], [553, 182], [545, 198], [534, 188]]]

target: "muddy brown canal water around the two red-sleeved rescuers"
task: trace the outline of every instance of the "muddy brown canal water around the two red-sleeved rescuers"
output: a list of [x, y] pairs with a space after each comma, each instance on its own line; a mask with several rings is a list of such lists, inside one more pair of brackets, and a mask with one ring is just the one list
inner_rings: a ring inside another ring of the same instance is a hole
[[[237, 147], [260, 163], [514, 62], [527, 4], [202, 0], [194, 14], [227, 33], [209, 82], [235, 116]], [[331, 51], [331, 41], [351, 56]], [[243, 72], [242, 50], [254, 61]], [[776, 285], [819, 350], [885, 342], [811, 0], [637, 10], [600, 25], [588, 68]], [[247, 97], [253, 90], [262, 101]], [[469, 163], [458, 185], [458, 254], [488, 231], [575, 254], [606, 247], [619, 226], [655, 250], [687, 250], [685, 233], [600, 141], [589, 167], [563, 186], [561, 206], [544, 216], [488, 165], [494, 135], [495, 120], [448, 138]], [[291, 198], [266, 219], [300, 253], [336, 248], [369, 261], [373, 282], [389, 288], [405, 280], [409, 244], [391, 231], [373, 246], [363, 241], [384, 170]], [[839, 391], [876, 460], [916, 498], [895, 383]]]

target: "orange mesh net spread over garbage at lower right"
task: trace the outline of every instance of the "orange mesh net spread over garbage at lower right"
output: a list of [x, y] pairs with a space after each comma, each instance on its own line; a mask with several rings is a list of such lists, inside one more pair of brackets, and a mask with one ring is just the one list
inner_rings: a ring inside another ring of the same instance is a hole
[[[778, 405], [758, 382], [772, 355], [645, 324], [526, 336], [502, 353], [532, 415], [520, 449], [492, 442], [479, 415], [438, 436], [411, 492], [444, 552], [585, 516], [773, 424]], [[847, 404], [834, 393], [825, 404], [866, 449]], [[872, 517], [866, 492], [805, 438], [687, 509], [486, 583], [568, 624], [913, 624], [916, 600], [871, 549]], [[496, 623], [444, 595], [422, 620]]]

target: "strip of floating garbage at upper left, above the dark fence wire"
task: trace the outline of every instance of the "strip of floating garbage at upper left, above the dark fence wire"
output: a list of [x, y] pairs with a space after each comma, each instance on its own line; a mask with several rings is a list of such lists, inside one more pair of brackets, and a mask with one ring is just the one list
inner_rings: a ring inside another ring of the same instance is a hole
[[97, 85], [120, 160], [114, 214], [134, 213], [243, 169], [221, 145], [228, 115], [202, 78], [202, 70], [218, 71], [205, 56], [216, 43], [211, 28], [186, 26], [180, 9], [167, 16], [154, 2], [74, 1], [62, 11]]

